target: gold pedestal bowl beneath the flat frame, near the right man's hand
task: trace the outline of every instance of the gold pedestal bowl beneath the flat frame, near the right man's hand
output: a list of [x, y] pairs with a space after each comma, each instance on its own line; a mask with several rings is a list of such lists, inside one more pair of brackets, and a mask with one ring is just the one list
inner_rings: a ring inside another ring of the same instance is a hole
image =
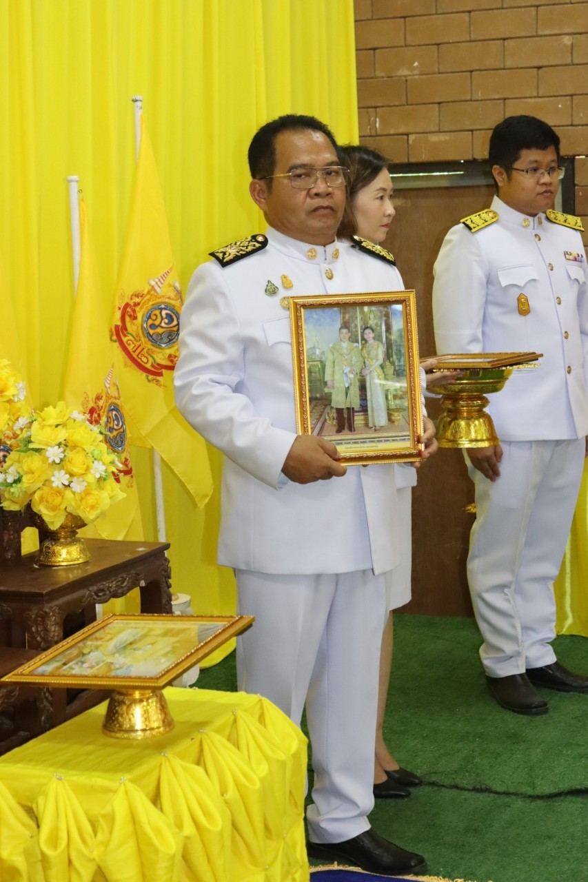
[[440, 447], [489, 447], [499, 444], [492, 417], [486, 414], [485, 392], [500, 392], [511, 366], [462, 370], [459, 377], [431, 387], [442, 395], [443, 413], [437, 423]]

